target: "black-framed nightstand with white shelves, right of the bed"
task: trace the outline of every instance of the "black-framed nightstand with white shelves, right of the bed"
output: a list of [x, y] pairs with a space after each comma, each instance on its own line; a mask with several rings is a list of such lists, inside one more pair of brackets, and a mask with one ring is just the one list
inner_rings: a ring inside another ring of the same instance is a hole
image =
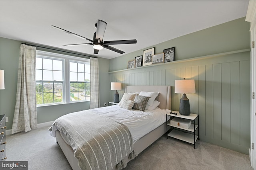
[[[181, 141], [185, 141], [187, 143], [191, 143], [194, 145], [194, 149], [196, 149], [196, 141], [199, 139], [199, 115], [190, 113], [190, 115], [181, 115], [178, 111], [172, 111], [175, 114], [166, 114], [166, 129], [168, 127], [173, 127], [170, 133], [167, 133], [167, 139], [169, 137], [173, 137], [175, 139], [179, 139]], [[168, 119], [170, 117], [170, 119]], [[192, 124], [189, 127], [182, 127], [181, 123], [170, 123], [170, 121], [174, 118], [178, 118], [180, 121], [189, 122], [192, 121]], [[198, 125], [195, 124], [195, 120], [198, 119]], [[175, 128], [175, 129], [174, 129]], [[182, 131], [185, 130], [186, 132]], [[198, 135], [195, 134], [196, 130], [198, 130]], [[190, 133], [188, 133], [190, 132]]]

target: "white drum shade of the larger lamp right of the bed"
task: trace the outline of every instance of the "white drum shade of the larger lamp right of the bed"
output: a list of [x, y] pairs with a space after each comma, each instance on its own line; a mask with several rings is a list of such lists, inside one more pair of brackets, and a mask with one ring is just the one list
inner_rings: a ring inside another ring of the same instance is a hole
[[188, 94], [195, 93], [195, 80], [175, 80], [175, 93]]

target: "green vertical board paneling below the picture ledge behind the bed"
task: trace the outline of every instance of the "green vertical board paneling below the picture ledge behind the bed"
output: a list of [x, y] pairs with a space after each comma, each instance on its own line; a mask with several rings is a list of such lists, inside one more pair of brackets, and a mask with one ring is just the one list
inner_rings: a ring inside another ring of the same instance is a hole
[[122, 83], [122, 90], [118, 91], [120, 99], [126, 85], [172, 86], [171, 108], [176, 111], [182, 94], [174, 93], [174, 81], [194, 79], [196, 93], [187, 97], [192, 113], [199, 114], [200, 140], [248, 154], [250, 52], [154, 64], [109, 74], [111, 82]]

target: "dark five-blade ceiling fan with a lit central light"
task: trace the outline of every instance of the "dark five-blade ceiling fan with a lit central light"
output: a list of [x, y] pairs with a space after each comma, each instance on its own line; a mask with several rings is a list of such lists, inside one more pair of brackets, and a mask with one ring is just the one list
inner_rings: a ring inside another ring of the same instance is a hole
[[106, 29], [107, 23], [105, 21], [102, 20], [98, 20], [97, 23], [95, 23], [95, 27], [96, 32], [94, 32], [93, 35], [93, 40], [88, 39], [86, 37], [82, 37], [81, 35], [72, 33], [70, 31], [67, 31], [65, 29], [62, 29], [60, 27], [56, 27], [54, 25], [52, 25], [53, 28], [59, 29], [61, 31], [64, 31], [66, 33], [69, 33], [71, 35], [74, 35], [76, 37], [82, 38], [82, 39], [86, 39], [88, 41], [90, 41], [91, 43], [82, 43], [82, 44], [66, 44], [65, 46], [75, 46], [75, 45], [93, 45], [94, 48], [94, 54], [98, 54], [99, 50], [106, 48], [112, 51], [115, 51], [117, 53], [123, 54], [124, 51], [121, 51], [119, 49], [116, 49], [114, 47], [111, 47], [109, 45], [116, 45], [116, 44], [136, 44], [137, 40], [136, 39], [130, 39], [130, 40], [117, 40], [117, 41], [103, 41], [103, 36], [105, 33], [105, 29]]

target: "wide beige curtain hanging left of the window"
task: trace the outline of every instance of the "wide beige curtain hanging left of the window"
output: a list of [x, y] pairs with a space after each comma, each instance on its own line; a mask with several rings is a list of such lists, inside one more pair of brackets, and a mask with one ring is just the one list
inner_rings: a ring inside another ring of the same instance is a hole
[[20, 61], [12, 134], [37, 127], [36, 47], [20, 45]]

